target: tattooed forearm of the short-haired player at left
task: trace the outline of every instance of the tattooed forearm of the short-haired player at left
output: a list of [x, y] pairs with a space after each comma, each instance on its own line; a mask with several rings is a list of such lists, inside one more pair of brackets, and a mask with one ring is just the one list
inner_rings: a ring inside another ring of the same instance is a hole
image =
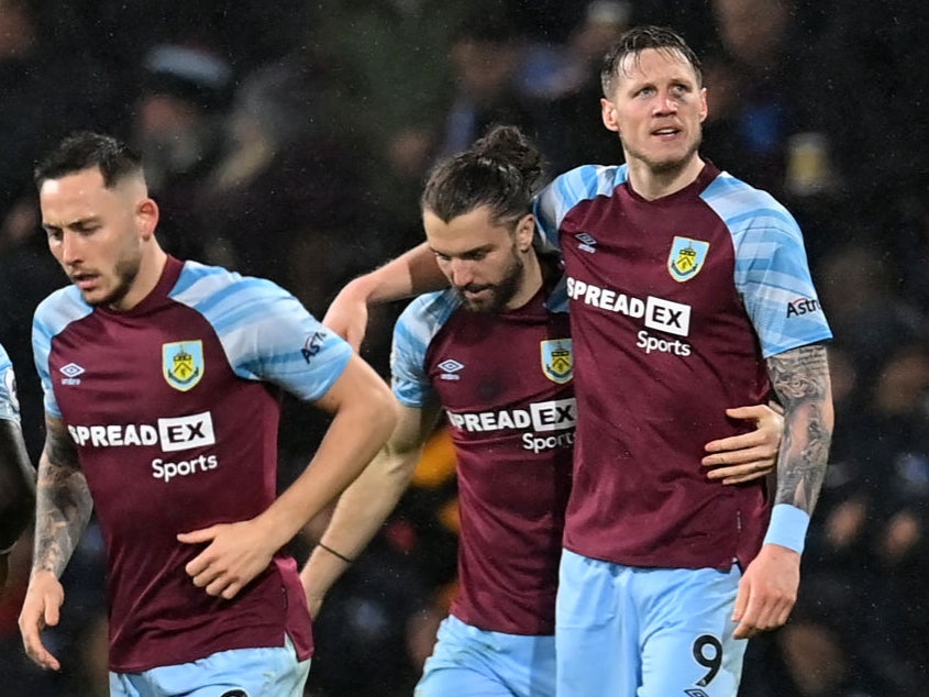
[[74, 441], [60, 424], [47, 423], [36, 499], [33, 572], [49, 571], [60, 577], [92, 509]]

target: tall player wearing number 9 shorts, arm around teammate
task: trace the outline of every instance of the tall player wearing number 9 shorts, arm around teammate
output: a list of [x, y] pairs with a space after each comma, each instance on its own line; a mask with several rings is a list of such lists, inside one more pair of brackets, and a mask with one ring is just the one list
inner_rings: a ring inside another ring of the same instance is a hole
[[[728, 697], [738, 640], [796, 600], [832, 436], [831, 332], [794, 218], [700, 157], [706, 89], [684, 40], [634, 27], [601, 78], [626, 164], [574, 169], [535, 202], [564, 255], [578, 414], [558, 695]], [[325, 323], [358, 341], [351, 312], [441, 284], [431, 256], [350, 284]], [[706, 434], [742, 428], [727, 405], [771, 395], [786, 410], [773, 497], [761, 480], [710, 486]]]

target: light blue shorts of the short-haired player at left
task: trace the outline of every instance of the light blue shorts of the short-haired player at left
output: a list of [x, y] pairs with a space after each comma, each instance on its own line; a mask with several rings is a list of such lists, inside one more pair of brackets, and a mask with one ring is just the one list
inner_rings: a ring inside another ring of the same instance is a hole
[[310, 660], [284, 646], [220, 651], [192, 663], [110, 673], [110, 697], [302, 697]]

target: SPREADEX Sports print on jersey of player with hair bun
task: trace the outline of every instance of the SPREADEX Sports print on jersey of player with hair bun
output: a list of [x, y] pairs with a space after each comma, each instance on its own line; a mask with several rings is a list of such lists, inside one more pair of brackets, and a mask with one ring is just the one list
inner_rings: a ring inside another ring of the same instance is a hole
[[[460, 413], [449, 411], [453, 428], [469, 433], [485, 433], [502, 430], [522, 430], [522, 447], [541, 453], [555, 447], [574, 444], [574, 427], [577, 423], [574, 398], [532, 402], [527, 409], [501, 409]], [[528, 429], [531, 429], [529, 431]]]

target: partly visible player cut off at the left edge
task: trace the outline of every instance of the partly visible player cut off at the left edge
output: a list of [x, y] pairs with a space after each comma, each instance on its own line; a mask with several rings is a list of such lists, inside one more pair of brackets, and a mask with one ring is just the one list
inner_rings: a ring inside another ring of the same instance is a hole
[[0, 346], [0, 590], [7, 582], [9, 555], [35, 508], [35, 471], [20, 429], [16, 378], [7, 350]]

